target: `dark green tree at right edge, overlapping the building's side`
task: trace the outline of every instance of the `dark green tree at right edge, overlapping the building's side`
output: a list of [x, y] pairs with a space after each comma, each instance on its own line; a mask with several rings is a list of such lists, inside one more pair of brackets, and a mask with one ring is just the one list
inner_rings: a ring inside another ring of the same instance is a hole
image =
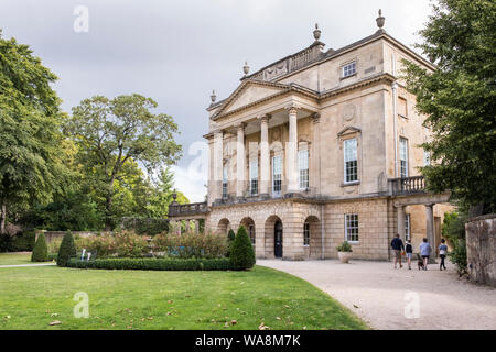
[[[407, 88], [427, 116], [432, 140], [422, 146], [436, 161], [421, 168], [433, 191], [496, 211], [496, 2], [439, 0], [417, 45], [435, 72], [406, 65]], [[476, 212], [472, 211], [472, 215]]]

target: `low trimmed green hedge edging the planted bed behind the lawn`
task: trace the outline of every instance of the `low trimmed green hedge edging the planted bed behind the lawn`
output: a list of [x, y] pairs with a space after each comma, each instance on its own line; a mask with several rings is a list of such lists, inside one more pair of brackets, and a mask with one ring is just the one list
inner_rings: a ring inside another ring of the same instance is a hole
[[138, 271], [229, 271], [229, 258], [155, 258], [155, 257], [116, 257], [94, 261], [68, 260], [68, 267], [138, 270]]

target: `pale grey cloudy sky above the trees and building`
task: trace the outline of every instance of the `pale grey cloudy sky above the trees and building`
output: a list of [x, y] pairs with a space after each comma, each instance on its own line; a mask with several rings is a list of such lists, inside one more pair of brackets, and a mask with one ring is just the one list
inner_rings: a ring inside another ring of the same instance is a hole
[[309, 46], [315, 23], [325, 50], [370, 35], [378, 9], [390, 35], [420, 42], [429, 0], [1, 0], [0, 29], [58, 76], [67, 112], [95, 95], [154, 99], [181, 131], [175, 187], [203, 201], [212, 90], [228, 97], [245, 61], [254, 73]]

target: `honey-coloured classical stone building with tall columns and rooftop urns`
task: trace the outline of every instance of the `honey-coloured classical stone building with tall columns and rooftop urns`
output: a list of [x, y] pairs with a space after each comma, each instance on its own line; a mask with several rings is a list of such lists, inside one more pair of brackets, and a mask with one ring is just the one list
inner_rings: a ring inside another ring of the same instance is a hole
[[430, 131], [399, 79], [401, 61], [435, 67], [382, 29], [338, 50], [314, 42], [212, 95], [208, 200], [170, 208], [211, 231], [244, 224], [257, 257], [388, 260], [395, 233], [439, 244], [449, 194], [424, 190]]

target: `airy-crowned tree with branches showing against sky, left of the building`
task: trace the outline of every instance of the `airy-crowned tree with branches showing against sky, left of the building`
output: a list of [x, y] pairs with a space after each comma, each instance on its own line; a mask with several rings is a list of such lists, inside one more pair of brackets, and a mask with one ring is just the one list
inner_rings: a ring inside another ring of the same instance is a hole
[[79, 145], [79, 157], [104, 188], [106, 230], [112, 228], [115, 183], [129, 160], [149, 173], [182, 155], [172, 117], [152, 113], [157, 102], [140, 95], [108, 99], [96, 96], [73, 108], [66, 131]]

